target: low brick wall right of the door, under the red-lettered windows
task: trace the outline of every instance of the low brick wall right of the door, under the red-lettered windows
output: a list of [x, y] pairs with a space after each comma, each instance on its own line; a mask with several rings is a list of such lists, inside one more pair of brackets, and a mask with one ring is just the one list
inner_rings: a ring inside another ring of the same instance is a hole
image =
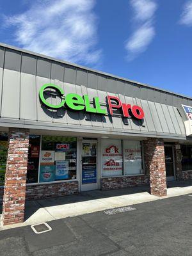
[[100, 188], [102, 190], [131, 188], [145, 184], [149, 184], [149, 179], [146, 175], [110, 178], [107, 177], [100, 180]]

